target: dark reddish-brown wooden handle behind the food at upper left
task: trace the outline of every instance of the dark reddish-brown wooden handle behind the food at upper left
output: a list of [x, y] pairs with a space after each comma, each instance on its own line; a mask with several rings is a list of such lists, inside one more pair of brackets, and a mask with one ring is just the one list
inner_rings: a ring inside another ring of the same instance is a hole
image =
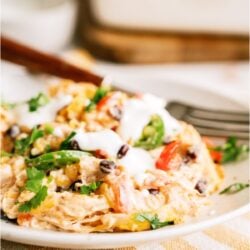
[[1, 59], [25, 66], [35, 72], [75, 82], [91, 82], [99, 86], [103, 81], [103, 77], [67, 63], [55, 55], [30, 48], [4, 36], [1, 36]]

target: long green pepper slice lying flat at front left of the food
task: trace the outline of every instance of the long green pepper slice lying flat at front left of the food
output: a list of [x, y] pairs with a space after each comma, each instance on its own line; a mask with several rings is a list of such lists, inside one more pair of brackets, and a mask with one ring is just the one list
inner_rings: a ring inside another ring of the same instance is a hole
[[36, 158], [26, 159], [29, 167], [36, 167], [39, 170], [52, 170], [64, 167], [69, 164], [78, 163], [81, 157], [88, 155], [86, 152], [77, 150], [61, 150], [46, 153]]

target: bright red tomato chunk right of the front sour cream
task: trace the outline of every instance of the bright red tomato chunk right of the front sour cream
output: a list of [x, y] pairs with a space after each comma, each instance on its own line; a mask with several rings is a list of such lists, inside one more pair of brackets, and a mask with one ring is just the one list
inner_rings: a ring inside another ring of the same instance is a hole
[[157, 159], [155, 166], [161, 170], [169, 170], [172, 168], [172, 163], [177, 163], [180, 159], [181, 144], [178, 141], [173, 141], [165, 146]]

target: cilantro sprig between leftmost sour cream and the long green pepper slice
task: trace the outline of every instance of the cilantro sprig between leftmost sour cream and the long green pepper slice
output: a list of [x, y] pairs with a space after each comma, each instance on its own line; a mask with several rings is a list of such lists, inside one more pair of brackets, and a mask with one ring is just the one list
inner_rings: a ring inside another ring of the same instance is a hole
[[29, 147], [40, 137], [44, 136], [42, 130], [37, 129], [36, 127], [32, 130], [31, 135], [26, 138], [15, 141], [15, 153], [23, 155], [27, 152]]

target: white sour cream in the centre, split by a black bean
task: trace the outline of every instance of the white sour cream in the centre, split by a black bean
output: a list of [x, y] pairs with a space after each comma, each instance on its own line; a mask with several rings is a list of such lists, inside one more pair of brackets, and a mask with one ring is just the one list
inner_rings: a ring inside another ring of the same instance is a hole
[[[124, 144], [119, 135], [109, 129], [87, 133], [77, 131], [72, 139], [78, 142], [82, 150], [94, 151], [101, 149], [115, 158]], [[145, 170], [154, 168], [154, 160], [146, 150], [132, 147], [122, 159], [118, 160], [118, 164], [124, 166], [132, 176], [138, 176], [138, 174], [144, 173]]]

